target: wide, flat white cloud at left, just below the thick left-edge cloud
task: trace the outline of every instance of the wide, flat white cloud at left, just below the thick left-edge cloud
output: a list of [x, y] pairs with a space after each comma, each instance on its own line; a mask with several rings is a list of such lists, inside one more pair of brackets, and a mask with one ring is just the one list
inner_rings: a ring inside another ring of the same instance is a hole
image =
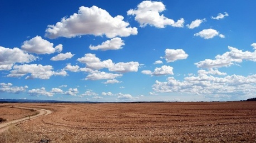
[[30, 74], [26, 79], [50, 79], [52, 75], [62, 75], [66, 76], [65, 71], [54, 72], [51, 65], [41, 65], [41, 64], [24, 64], [24, 65], [14, 65], [11, 73], [8, 77], [21, 77], [26, 74]]

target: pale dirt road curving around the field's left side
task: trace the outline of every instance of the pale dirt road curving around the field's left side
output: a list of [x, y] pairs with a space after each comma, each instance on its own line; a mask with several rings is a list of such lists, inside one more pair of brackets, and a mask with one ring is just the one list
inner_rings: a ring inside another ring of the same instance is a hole
[[21, 109], [33, 109], [33, 110], [37, 110], [39, 113], [37, 115], [34, 116], [27, 116], [25, 118], [21, 118], [21, 119], [16, 119], [16, 120], [12, 120], [12, 121], [8, 121], [8, 122], [3, 122], [0, 124], [0, 134], [8, 129], [8, 125], [10, 124], [15, 124], [17, 122], [21, 122], [21, 121], [25, 121], [25, 120], [32, 120], [35, 118], [38, 118], [40, 116], [43, 115], [48, 115], [51, 114], [52, 111], [50, 110], [46, 110], [46, 109], [38, 109], [38, 108], [27, 108], [27, 107], [23, 107], [23, 106], [14, 106], [14, 108], [21, 108]]

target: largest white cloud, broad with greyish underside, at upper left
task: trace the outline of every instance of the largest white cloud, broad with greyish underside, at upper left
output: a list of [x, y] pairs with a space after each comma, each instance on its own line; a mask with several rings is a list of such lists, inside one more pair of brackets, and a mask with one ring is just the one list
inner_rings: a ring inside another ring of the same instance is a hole
[[129, 23], [123, 21], [124, 17], [112, 17], [104, 9], [96, 6], [80, 7], [78, 13], [69, 18], [62, 18], [55, 25], [48, 25], [46, 37], [54, 39], [57, 37], [76, 37], [78, 35], [106, 35], [108, 38], [116, 36], [127, 37], [136, 35], [137, 28], [128, 27]]

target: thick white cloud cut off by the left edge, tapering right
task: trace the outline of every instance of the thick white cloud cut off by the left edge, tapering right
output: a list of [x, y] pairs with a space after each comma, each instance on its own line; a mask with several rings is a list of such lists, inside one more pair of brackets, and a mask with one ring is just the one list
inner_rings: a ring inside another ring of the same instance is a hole
[[30, 63], [37, 58], [19, 48], [9, 49], [0, 46], [0, 70], [10, 70], [15, 63]]

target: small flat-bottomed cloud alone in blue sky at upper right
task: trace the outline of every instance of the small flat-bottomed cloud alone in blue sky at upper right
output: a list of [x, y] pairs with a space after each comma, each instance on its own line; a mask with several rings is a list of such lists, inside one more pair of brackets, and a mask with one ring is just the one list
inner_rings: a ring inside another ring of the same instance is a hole
[[220, 38], [225, 38], [225, 35], [219, 34], [218, 31], [211, 28], [201, 30], [200, 32], [194, 34], [194, 36], [200, 36], [201, 38], [204, 38], [204, 39], [211, 39], [217, 35], [219, 35]]

